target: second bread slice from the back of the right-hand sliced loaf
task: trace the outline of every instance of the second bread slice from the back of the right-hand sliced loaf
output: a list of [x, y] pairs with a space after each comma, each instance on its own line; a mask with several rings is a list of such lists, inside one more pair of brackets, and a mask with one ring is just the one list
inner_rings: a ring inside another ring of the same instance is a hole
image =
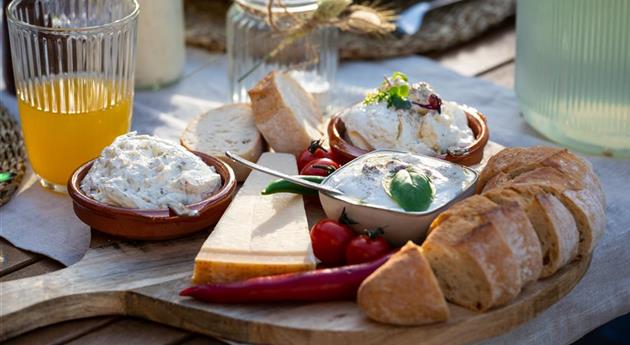
[[[571, 212], [578, 233], [580, 256], [593, 251], [606, 228], [606, 214], [601, 199], [587, 188], [574, 189], [572, 179], [563, 172], [543, 167], [534, 169], [508, 180], [500, 186], [536, 185], [554, 195]], [[496, 188], [496, 187], [495, 187]], [[486, 190], [486, 189], [484, 189]]]

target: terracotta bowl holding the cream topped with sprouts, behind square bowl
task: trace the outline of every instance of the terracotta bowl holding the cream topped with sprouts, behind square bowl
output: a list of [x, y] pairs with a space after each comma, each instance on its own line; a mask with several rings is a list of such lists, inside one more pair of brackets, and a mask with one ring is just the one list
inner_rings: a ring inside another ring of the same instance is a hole
[[[488, 143], [490, 136], [486, 117], [481, 113], [471, 114], [468, 112], [466, 112], [466, 117], [468, 118], [468, 126], [475, 136], [475, 141], [468, 147], [463, 148], [460, 154], [448, 153], [437, 158], [466, 166], [481, 162], [483, 149]], [[342, 164], [369, 152], [352, 145], [350, 141], [346, 140], [346, 125], [338, 115], [334, 116], [328, 123], [328, 139], [330, 141], [330, 149], [339, 160], [339, 163]]]

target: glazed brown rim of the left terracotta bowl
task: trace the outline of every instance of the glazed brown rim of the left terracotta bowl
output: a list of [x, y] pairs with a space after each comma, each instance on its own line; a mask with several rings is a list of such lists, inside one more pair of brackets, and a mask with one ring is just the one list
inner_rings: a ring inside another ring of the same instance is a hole
[[[226, 199], [232, 197], [234, 191], [236, 190], [236, 177], [234, 175], [234, 171], [232, 171], [232, 169], [229, 168], [227, 164], [225, 164], [218, 158], [197, 151], [191, 152], [201, 158], [201, 160], [203, 160], [206, 164], [213, 166], [216, 169], [217, 173], [221, 176], [222, 180], [221, 188], [215, 194], [200, 202], [187, 205], [188, 208], [197, 210], [201, 214], [207, 210], [212, 209], [216, 205], [220, 205]], [[88, 197], [87, 195], [85, 195], [85, 193], [83, 193], [80, 185], [81, 181], [88, 173], [93, 163], [94, 160], [91, 160], [77, 168], [77, 170], [75, 170], [75, 172], [72, 174], [72, 177], [68, 181], [68, 194], [77, 204], [89, 209], [94, 213], [104, 215], [116, 215], [117, 217], [133, 218], [138, 220], [143, 219], [144, 221], [159, 221], [161, 223], [178, 222], [184, 220], [183, 217], [173, 214], [167, 208], [149, 210], [130, 209], [110, 206]]]

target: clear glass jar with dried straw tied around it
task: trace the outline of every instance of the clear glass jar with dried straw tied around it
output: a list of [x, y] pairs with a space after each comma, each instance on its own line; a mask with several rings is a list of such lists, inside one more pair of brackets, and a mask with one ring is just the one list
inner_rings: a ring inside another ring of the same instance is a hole
[[[247, 90], [273, 70], [288, 71], [324, 109], [337, 72], [337, 29], [320, 28], [265, 57], [287, 37], [274, 32], [267, 17], [268, 0], [236, 0], [227, 14], [228, 77], [232, 102], [247, 102]], [[316, 0], [275, 1], [274, 23], [287, 28], [308, 18]]]

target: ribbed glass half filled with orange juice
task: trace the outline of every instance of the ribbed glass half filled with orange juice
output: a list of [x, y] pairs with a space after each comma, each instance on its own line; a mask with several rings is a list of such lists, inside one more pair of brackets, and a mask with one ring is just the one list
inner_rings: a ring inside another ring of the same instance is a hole
[[63, 192], [72, 172], [129, 131], [136, 0], [14, 0], [7, 8], [29, 161]]

